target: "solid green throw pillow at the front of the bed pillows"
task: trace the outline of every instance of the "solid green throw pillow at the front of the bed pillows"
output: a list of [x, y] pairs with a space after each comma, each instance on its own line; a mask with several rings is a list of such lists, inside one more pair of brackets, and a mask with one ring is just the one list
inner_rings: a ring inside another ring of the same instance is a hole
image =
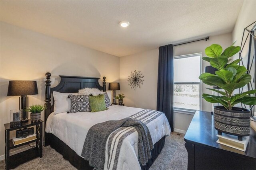
[[90, 107], [92, 112], [106, 110], [105, 96], [103, 94], [98, 96], [90, 96]]

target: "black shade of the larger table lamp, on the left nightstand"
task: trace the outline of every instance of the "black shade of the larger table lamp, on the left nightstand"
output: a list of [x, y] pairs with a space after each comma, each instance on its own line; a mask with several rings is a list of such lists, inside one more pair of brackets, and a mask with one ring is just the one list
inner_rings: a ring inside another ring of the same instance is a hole
[[27, 96], [38, 94], [36, 81], [9, 81], [7, 96]]

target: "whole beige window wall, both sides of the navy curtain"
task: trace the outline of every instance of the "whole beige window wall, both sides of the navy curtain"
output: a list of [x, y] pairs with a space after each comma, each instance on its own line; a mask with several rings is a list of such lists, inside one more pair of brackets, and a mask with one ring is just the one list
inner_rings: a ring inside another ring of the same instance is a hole
[[[231, 33], [210, 37], [209, 41], [198, 41], [174, 47], [174, 56], [188, 55], [194, 53], [202, 53], [205, 56], [204, 49], [213, 43], [222, 45], [223, 48], [232, 44]], [[207, 62], [202, 62], [202, 70], [209, 65]], [[144, 75], [144, 84], [136, 90], [128, 86], [128, 76], [130, 72], [139, 70]], [[158, 74], [158, 49], [146, 51], [136, 55], [130, 55], [120, 58], [120, 93], [124, 93], [124, 103], [126, 106], [141, 107], [156, 109], [157, 95], [157, 74]], [[203, 92], [211, 93], [205, 90]], [[202, 110], [211, 111], [212, 104], [202, 102]], [[188, 129], [193, 115], [175, 113], [174, 128], [177, 131], [185, 132]]]

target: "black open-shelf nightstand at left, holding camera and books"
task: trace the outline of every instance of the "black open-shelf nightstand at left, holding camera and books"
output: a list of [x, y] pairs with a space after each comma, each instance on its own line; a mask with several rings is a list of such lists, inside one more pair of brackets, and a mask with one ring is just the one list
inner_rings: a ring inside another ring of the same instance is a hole
[[[40, 156], [40, 158], [42, 158], [43, 156], [43, 138], [42, 138], [43, 122], [44, 121], [40, 120], [38, 122], [32, 123], [31, 120], [29, 119], [27, 122], [22, 122], [22, 126], [20, 127], [10, 127], [10, 123], [4, 124], [6, 170], [15, 168], [16, 166], [23, 164], [24, 162], [27, 162], [29, 160], [32, 160], [36, 157]], [[14, 146], [12, 139], [10, 139], [10, 131], [16, 131], [18, 129], [23, 129], [25, 127], [32, 127], [32, 126], [36, 126], [36, 130], [34, 131], [36, 133], [36, 139]], [[18, 154], [14, 154], [10, 156], [11, 149], [18, 148], [23, 145], [29, 145], [32, 142], [36, 142], [35, 147], [32, 147], [31, 149], [28, 149]]]

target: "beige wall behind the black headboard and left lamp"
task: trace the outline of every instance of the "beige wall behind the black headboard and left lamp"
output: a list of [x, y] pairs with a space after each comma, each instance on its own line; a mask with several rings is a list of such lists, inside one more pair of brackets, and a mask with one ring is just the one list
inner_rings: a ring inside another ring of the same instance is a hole
[[52, 86], [58, 84], [58, 75], [100, 77], [101, 81], [106, 76], [107, 82], [119, 80], [119, 57], [7, 23], [1, 23], [0, 36], [1, 158], [4, 158], [4, 123], [10, 122], [10, 109], [18, 108], [18, 96], [7, 96], [9, 80], [37, 81], [39, 94], [29, 97], [30, 104], [44, 104], [46, 72], [52, 73]]

